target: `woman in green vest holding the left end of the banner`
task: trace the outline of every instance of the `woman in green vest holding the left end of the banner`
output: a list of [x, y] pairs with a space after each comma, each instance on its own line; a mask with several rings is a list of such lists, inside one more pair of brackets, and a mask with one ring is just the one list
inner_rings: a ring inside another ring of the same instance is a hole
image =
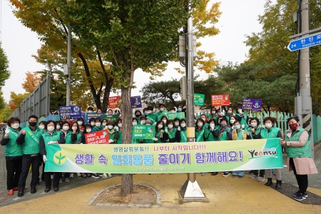
[[[77, 123], [77, 122], [76, 122]], [[77, 123], [78, 125], [78, 123]], [[47, 153], [49, 146], [51, 144], [64, 144], [66, 143], [66, 140], [63, 136], [62, 132], [56, 131], [56, 122], [55, 121], [48, 121], [46, 123], [46, 132], [43, 133], [39, 139], [39, 145], [40, 145], [40, 154], [44, 160], [44, 163], [46, 164], [47, 161]], [[62, 173], [55, 172], [54, 173], [54, 179], [53, 179], [53, 186], [54, 191], [57, 192], [59, 188], [59, 180], [62, 177]], [[51, 188], [51, 172], [45, 172], [45, 193], [48, 193]]]

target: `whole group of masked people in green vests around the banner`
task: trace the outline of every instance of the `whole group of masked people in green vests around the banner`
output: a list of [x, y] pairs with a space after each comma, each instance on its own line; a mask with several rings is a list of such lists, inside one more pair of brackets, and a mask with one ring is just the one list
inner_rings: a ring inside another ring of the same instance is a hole
[[[184, 143], [187, 142], [186, 120], [184, 118], [174, 118], [168, 120], [168, 111], [164, 104], [159, 104], [159, 111], [153, 111], [153, 106], [143, 109], [143, 112], [137, 110], [132, 119], [132, 126], [148, 125], [156, 126], [155, 136], [152, 140], [133, 139], [131, 143]], [[88, 113], [93, 112], [93, 108], [89, 107]], [[185, 106], [170, 108], [170, 113], [184, 112]], [[101, 112], [98, 109], [96, 112]], [[107, 112], [113, 114], [111, 109]], [[120, 112], [115, 112], [120, 116]], [[87, 124], [83, 118], [77, 121], [41, 121], [37, 126], [38, 118], [36, 116], [29, 117], [29, 126], [20, 128], [19, 118], [10, 118], [8, 127], [4, 132], [4, 138], [1, 145], [5, 146], [6, 168], [7, 168], [7, 188], [8, 194], [14, 194], [15, 190], [19, 190], [18, 196], [24, 195], [26, 189], [26, 178], [29, 168], [32, 168], [31, 193], [36, 193], [36, 185], [39, 180], [39, 163], [45, 164], [46, 148], [50, 144], [83, 144], [86, 143], [84, 134], [95, 131], [108, 131], [109, 142], [113, 144], [121, 144], [122, 135], [122, 119], [113, 123], [106, 119], [91, 118]], [[250, 118], [244, 113], [241, 107], [237, 108], [233, 113], [233, 108], [228, 107], [226, 113], [221, 113], [220, 109], [212, 108], [209, 114], [202, 114], [200, 118], [195, 118], [195, 142], [203, 141], [235, 141], [235, 140], [251, 140], [265, 138], [282, 138], [280, 128], [275, 126], [275, 118], [266, 117], [263, 120], [264, 126], [260, 126], [258, 118]], [[310, 133], [300, 128], [297, 117], [289, 118], [285, 139], [280, 142], [286, 147], [288, 156], [288, 169], [293, 170], [299, 191], [293, 196], [295, 200], [303, 200], [307, 197], [307, 174], [317, 173], [315, 163], [310, 153]], [[275, 188], [282, 187], [281, 170], [274, 169], [276, 177]], [[250, 178], [256, 178], [259, 182], [263, 182], [265, 177], [267, 183], [272, 185], [272, 170], [261, 169], [251, 170]], [[66, 173], [65, 180], [69, 181], [73, 173]], [[206, 173], [202, 173], [205, 176]], [[230, 172], [223, 172], [224, 177], [230, 175]], [[111, 177], [111, 174], [85, 174], [78, 173], [79, 176], [86, 178]], [[211, 175], [218, 175], [213, 172]], [[233, 171], [232, 176], [243, 178], [244, 171]], [[42, 173], [41, 180], [46, 183], [45, 192], [49, 192], [51, 188], [51, 179], [53, 179], [54, 191], [58, 191], [58, 185], [61, 182], [62, 173]]]

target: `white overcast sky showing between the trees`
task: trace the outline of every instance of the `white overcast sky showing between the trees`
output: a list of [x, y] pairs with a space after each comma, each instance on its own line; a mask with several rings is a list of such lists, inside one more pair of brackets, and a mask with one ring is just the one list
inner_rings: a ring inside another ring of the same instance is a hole
[[[10, 92], [25, 93], [21, 84], [24, 82], [27, 71], [41, 71], [44, 69], [40, 63], [31, 56], [36, 55], [37, 49], [41, 46], [35, 32], [23, 26], [12, 13], [9, 1], [1, 1], [1, 42], [2, 49], [9, 59], [9, 70], [11, 77], [2, 88], [6, 102], [10, 99]], [[210, 4], [216, 1], [210, 1]], [[258, 15], [264, 12], [265, 0], [222, 0], [218, 24], [220, 34], [205, 39], [200, 39], [203, 44], [200, 49], [208, 52], [215, 52], [215, 59], [224, 64], [228, 61], [242, 63], [248, 54], [248, 47], [245, 46], [245, 35], [252, 32], [262, 31], [258, 22]], [[169, 63], [168, 69], [163, 76], [157, 77], [155, 81], [167, 81], [172, 78], [180, 79], [182, 74], [177, 73], [173, 68], [178, 68], [179, 63]], [[199, 79], [208, 78], [208, 74], [195, 71], [194, 76], [199, 74]], [[131, 91], [132, 96], [141, 95], [141, 87], [149, 82], [149, 75], [140, 69], [135, 71], [134, 82], [137, 88]]]

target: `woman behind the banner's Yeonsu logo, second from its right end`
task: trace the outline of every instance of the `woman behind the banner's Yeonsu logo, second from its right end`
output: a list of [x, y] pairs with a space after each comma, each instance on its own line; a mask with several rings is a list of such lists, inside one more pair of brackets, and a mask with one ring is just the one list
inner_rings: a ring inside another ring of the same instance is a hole
[[[260, 139], [261, 138], [261, 130], [263, 129], [262, 126], [260, 126], [260, 121], [258, 118], [250, 118], [250, 127], [248, 127], [248, 133], [250, 133], [251, 139]], [[260, 172], [258, 170], [250, 170], [251, 179], [257, 179], [258, 182], [263, 182], [265, 180], [265, 170], [260, 169]]]

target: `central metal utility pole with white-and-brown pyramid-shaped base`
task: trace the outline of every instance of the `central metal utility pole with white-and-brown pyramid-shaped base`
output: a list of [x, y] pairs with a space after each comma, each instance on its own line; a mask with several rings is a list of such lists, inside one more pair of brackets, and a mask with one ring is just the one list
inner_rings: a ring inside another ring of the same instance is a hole
[[[193, 17], [191, 14], [192, 2], [188, 2], [188, 32], [186, 34], [186, 86], [187, 86], [187, 99], [186, 99], [186, 122], [187, 122], [187, 141], [188, 143], [194, 142], [195, 139], [195, 121], [194, 121], [194, 75], [193, 75]], [[196, 181], [196, 173], [188, 173], [188, 179], [180, 188], [180, 197], [183, 200], [204, 200], [205, 196], [200, 190], [200, 186]]]

